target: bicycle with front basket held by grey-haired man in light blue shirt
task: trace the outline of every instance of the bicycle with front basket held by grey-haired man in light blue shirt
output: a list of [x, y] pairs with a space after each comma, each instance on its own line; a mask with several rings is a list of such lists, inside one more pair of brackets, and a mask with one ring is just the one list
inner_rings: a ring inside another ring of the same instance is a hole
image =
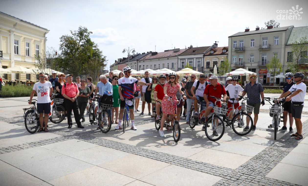
[[[100, 104], [99, 109], [98, 106], [95, 106], [95, 101], [99, 101], [99, 97], [102, 97], [102, 95], [96, 94], [94, 98], [90, 99], [93, 101], [90, 104], [89, 107], [89, 121], [91, 124], [98, 124], [99, 129], [103, 132], [103, 133], [107, 133], [109, 132], [109, 130], [111, 129], [111, 116], [110, 114], [107, 112], [107, 110], [111, 110], [113, 105], [109, 105], [109, 104]], [[96, 122], [95, 122], [96, 120]]]

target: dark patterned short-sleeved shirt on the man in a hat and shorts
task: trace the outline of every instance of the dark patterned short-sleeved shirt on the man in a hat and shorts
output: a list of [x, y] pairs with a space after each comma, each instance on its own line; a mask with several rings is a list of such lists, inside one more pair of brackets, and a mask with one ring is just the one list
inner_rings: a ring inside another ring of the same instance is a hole
[[261, 97], [260, 92], [263, 92], [264, 89], [261, 85], [261, 83], [255, 83], [251, 86], [251, 82], [247, 83], [244, 92], [247, 93], [247, 97], [249, 100], [247, 100], [247, 104], [253, 104], [253, 103], [261, 103]]

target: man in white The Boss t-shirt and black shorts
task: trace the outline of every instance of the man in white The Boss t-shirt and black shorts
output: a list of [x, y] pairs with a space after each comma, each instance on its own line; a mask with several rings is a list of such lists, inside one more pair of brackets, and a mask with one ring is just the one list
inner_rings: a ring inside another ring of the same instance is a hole
[[42, 132], [43, 123], [45, 122], [44, 131], [48, 132], [47, 123], [48, 123], [48, 115], [50, 113], [50, 96], [52, 93], [52, 85], [51, 82], [45, 80], [45, 74], [43, 72], [39, 73], [39, 82], [34, 83], [32, 92], [30, 94], [29, 104], [32, 104], [32, 98], [34, 93], [37, 93], [37, 109], [39, 113], [39, 123], [41, 125], [38, 132]]

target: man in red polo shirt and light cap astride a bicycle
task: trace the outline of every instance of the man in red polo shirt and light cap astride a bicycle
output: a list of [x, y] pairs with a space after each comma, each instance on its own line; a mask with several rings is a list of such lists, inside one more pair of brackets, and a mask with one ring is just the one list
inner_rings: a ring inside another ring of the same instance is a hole
[[[218, 83], [218, 77], [212, 75], [211, 77], [209, 77], [209, 80], [211, 84], [206, 85], [205, 90], [203, 92], [203, 98], [206, 102], [204, 118], [201, 119], [201, 121], [203, 122], [205, 121], [205, 118], [208, 117], [209, 113], [212, 111], [213, 107], [215, 106], [214, 104], [215, 104], [216, 99], [210, 96], [221, 97], [221, 95], [223, 95], [224, 96], [223, 102], [225, 102], [227, 98], [225, 87], [221, 85], [220, 83]], [[216, 105], [218, 107], [221, 107], [220, 101], [217, 101]], [[202, 130], [204, 130], [204, 127], [205, 125], [203, 126]]]

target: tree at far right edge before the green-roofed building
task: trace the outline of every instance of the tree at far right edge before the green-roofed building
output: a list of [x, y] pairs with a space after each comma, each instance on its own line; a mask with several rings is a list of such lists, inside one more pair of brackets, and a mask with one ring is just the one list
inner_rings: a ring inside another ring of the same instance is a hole
[[288, 58], [290, 59], [288, 62], [288, 70], [290, 72], [299, 72], [300, 70], [303, 72], [307, 72], [307, 68], [300, 68], [301, 65], [307, 63], [307, 38], [302, 37], [299, 41], [295, 41], [291, 45], [291, 53]]

